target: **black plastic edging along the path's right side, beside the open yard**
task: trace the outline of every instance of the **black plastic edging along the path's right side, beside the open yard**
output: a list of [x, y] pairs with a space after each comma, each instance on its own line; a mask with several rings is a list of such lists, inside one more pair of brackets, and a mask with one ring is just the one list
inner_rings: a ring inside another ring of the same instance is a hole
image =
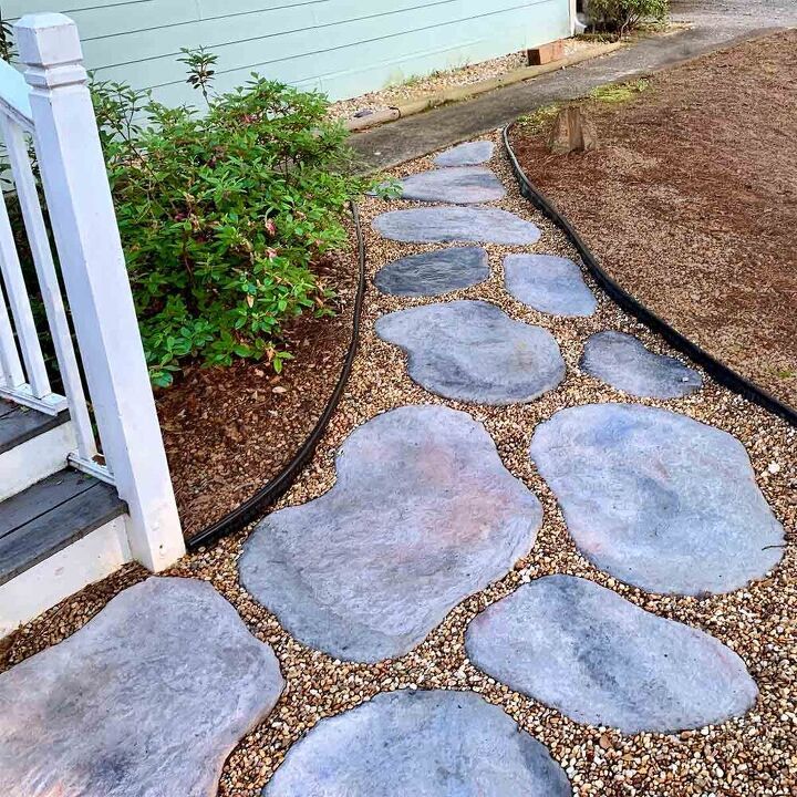
[[776, 398], [767, 391], [753, 384], [749, 380], [732, 371], [725, 363], [712, 356], [707, 351], [701, 349], [689, 338], [682, 335], [677, 330], [673, 329], [664, 319], [656, 315], [652, 310], [646, 308], [642, 302], [638, 301], [628, 291], [621, 288], [600, 266], [598, 259], [590, 248], [584, 244], [576, 228], [556, 207], [556, 205], [537, 188], [526, 176], [522, 167], [518, 163], [511, 144], [509, 143], [509, 127], [503, 131], [504, 147], [509, 156], [509, 162], [515, 173], [515, 177], [520, 185], [520, 194], [531, 201], [535, 207], [547, 216], [576, 247], [578, 253], [603, 291], [619, 304], [623, 310], [631, 313], [635, 319], [641, 321], [645, 327], [661, 334], [670, 345], [685, 354], [697, 365], [702, 366], [707, 374], [716, 382], [744, 396], [747, 401], [758, 404], [774, 415], [778, 415], [793, 426], [797, 426], [797, 411], [779, 398]]

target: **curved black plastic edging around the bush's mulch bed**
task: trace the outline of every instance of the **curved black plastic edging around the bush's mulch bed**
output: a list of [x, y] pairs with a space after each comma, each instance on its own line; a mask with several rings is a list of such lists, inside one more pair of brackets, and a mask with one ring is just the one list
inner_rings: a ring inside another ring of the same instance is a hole
[[327, 402], [327, 406], [319, 416], [312, 432], [310, 432], [301, 448], [299, 448], [299, 451], [293, 455], [293, 458], [288, 463], [288, 465], [286, 465], [286, 467], [277, 474], [277, 476], [261, 487], [251, 498], [248, 498], [239, 507], [228, 515], [225, 515], [211, 526], [208, 526], [187, 539], [186, 548], [189, 551], [196, 550], [200, 546], [215, 542], [221, 537], [226, 537], [227, 535], [244, 528], [247, 524], [259, 517], [263, 510], [271, 506], [278, 498], [280, 498], [280, 496], [287, 493], [291, 485], [296, 482], [304, 465], [307, 465], [308, 460], [313, 455], [321, 436], [327, 431], [327, 426], [329, 426], [332, 414], [337, 410], [346, 383], [349, 382], [349, 375], [351, 374], [352, 364], [354, 363], [354, 355], [356, 354], [358, 343], [360, 340], [360, 319], [362, 317], [363, 299], [365, 297], [365, 241], [363, 240], [362, 227], [360, 226], [360, 214], [354, 203], [351, 204], [351, 214], [358, 239], [359, 280], [354, 298], [351, 342], [349, 343], [349, 351], [346, 352], [343, 369], [338, 377], [335, 389]]

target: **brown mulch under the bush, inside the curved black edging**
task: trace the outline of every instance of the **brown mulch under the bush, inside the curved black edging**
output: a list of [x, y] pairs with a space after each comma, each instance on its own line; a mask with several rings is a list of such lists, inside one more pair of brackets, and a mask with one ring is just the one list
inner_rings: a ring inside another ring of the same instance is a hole
[[156, 397], [183, 532], [190, 538], [277, 476], [327, 406], [349, 350], [358, 286], [353, 228], [345, 251], [315, 267], [332, 287], [333, 318], [302, 315], [284, 329], [293, 360], [186, 369]]

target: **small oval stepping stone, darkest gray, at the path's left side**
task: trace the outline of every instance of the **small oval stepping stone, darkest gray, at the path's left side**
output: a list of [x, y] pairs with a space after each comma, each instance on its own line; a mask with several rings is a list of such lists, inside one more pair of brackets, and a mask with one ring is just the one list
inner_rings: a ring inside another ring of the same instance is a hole
[[469, 288], [489, 277], [487, 252], [478, 247], [454, 247], [410, 255], [387, 263], [374, 277], [382, 293], [439, 296]]

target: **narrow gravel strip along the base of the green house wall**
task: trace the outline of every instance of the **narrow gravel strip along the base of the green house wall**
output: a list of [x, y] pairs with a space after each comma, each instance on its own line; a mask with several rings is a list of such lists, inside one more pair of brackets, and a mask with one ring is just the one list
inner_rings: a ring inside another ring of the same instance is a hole
[[[565, 40], [565, 58], [576, 55], [583, 50], [598, 49], [599, 43], [580, 39]], [[470, 85], [479, 81], [497, 77], [513, 70], [528, 66], [526, 51], [509, 53], [500, 58], [466, 64], [458, 69], [433, 72], [429, 75], [410, 77], [403, 83], [385, 86], [381, 91], [369, 92], [351, 100], [339, 100], [330, 106], [333, 118], [351, 120], [360, 111], [384, 111], [394, 105], [420, 100], [454, 86]]]

